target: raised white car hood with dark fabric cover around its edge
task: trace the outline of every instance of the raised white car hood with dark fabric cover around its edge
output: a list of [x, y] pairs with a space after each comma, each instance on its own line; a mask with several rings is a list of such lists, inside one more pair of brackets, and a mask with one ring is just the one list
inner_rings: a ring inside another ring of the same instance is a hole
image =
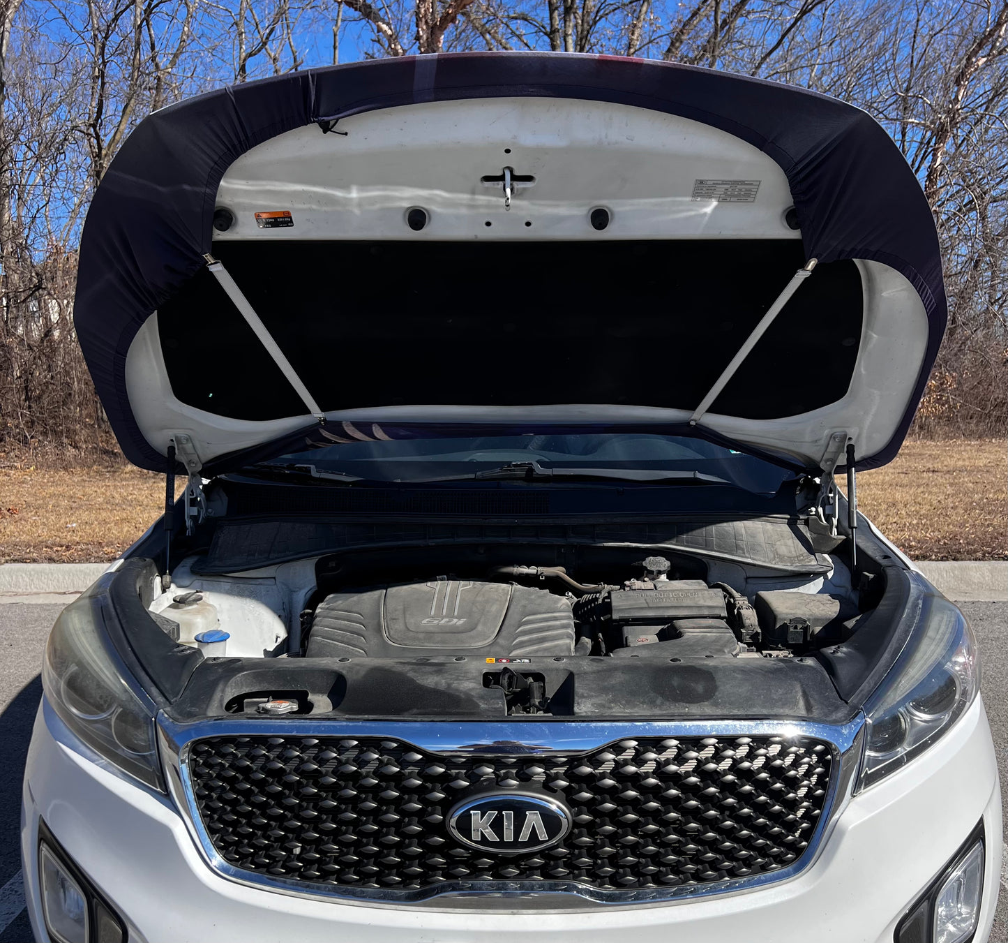
[[808, 469], [850, 443], [871, 468], [946, 300], [918, 182], [859, 109], [662, 63], [461, 53], [146, 118], [88, 214], [75, 324], [153, 470], [172, 444], [221, 472], [312, 430], [455, 424], [692, 424]]

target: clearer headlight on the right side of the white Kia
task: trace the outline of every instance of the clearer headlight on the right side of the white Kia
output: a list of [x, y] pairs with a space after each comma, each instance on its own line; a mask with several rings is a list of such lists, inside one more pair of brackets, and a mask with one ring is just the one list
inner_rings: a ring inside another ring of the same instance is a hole
[[865, 705], [868, 737], [860, 788], [923, 752], [962, 716], [980, 689], [977, 645], [963, 613], [937, 595], [918, 607], [906, 647]]

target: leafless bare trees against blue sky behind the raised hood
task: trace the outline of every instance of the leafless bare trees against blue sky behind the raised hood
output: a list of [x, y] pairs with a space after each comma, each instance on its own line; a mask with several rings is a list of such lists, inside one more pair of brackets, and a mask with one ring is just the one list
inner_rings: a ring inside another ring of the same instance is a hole
[[1008, 0], [0, 0], [0, 443], [107, 438], [74, 337], [76, 247], [136, 123], [348, 49], [650, 56], [861, 106], [941, 240], [950, 328], [915, 428], [1004, 435]]

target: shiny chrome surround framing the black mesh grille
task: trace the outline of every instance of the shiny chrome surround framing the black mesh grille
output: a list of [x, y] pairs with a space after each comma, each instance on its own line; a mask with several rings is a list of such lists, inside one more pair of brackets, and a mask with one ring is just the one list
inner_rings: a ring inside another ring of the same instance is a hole
[[[713, 895], [750, 891], [769, 883], [787, 880], [810, 867], [822, 853], [836, 820], [853, 795], [856, 773], [861, 764], [865, 717], [859, 713], [843, 725], [804, 721], [688, 721], [625, 722], [595, 721], [353, 721], [305, 720], [294, 717], [247, 719], [223, 718], [179, 724], [163, 711], [158, 714], [158, 741], [168, 792], [181, 813], [186, 827], [206, 863], [223, 877], [260, 891], [286, 894], [311, 900], [339, 901], [356, 905], [392, 905], [420, 907], [434, 904], [450, 907], [452, 898], [487, 899], [487, 909], [521, 909], [515, 899], [534, 899], [541, 910], [542, 899], [563, 896], [568, 905], [573, 897], [587, 907], [599, 905], [645, 905], [696, 900]], [[213, 736], [311, 736], [358, 737], [382, 736], [402, 740], [430, 752], [445, 755], [539, 755], [543, 753], [579, 753], [619, 740], [642, 737], [679, 736], [809, 736], [831, 743], [834, 748], [835, 775], [823, 806], [820, 822], [808, 848], [788, 867], [752, 877], [739, 877], [718, 883], [678, 888], [600, 891], [576, 881], [446, 881], [416, 891], [390, 891], [366, 888], [334, 888], [281, 877], [266, 877], [228, 863], [217, 852], [196, 805], [193, 782], [186, 767], [190, 745]], [[449, 898], [449, 900], [437, 900]], [[503, 899], [503, 900], [502, 900]], [[559, 906], [559, 905], [558, 905]]]

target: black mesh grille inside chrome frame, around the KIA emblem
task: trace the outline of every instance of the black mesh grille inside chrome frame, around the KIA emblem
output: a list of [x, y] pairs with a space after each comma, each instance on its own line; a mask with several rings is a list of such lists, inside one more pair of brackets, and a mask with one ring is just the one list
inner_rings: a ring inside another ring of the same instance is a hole
[[[437, 755], [409, 743], [230, 736], [188, 759], [214, 847], [265, 875], [382, 890], [446, 881], [577, 881], [602, 891], [708, 885], [805, 850], [833, 764], [807, 737], [620, 740], [587, 753]], [[448, 831], [488, 790], [539, 792], [574, 828], [537, 853], [494, 855]]]

